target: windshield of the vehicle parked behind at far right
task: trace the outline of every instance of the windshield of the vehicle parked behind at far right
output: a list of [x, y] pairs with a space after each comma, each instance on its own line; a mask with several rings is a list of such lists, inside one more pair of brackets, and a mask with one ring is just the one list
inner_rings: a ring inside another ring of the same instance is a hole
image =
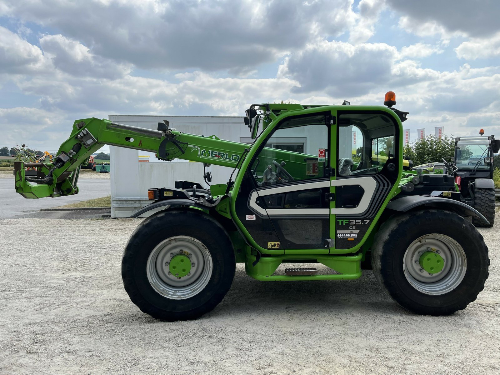
[[489, 156], [488, 138], [471, 137], [456, 143], [455, 165], [459, 169], [472, 169], [476, 164], [477, 169], [488, 169], [489, 165], [484, 164], [486, 156]]

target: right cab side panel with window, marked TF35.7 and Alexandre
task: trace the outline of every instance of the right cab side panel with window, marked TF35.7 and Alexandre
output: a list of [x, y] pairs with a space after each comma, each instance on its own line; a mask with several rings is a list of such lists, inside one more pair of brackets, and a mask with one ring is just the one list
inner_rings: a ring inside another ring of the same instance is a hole
[[397, 182], [400, 134], [385, 111], [337, 111], [337, 170], [332, 177], [334, 249], [355, 251]]

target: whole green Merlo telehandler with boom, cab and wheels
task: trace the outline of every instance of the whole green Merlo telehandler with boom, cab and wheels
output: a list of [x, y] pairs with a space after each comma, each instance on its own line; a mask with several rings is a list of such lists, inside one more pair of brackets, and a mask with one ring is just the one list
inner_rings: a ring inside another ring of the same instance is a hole
[[[384, 104], [252, 104], [245, 117], [251, 145], [176, 131], [168, 121], [149, 130], [76, 120], [50, 163], [15, 164], [15, 189], [26, 198], [77, 193], [82, 161], [103, 144], [233, 168], [227, 183], [209, 190], [190, 181], [150, 188], [152, 202], [134, 213], [155, 210], [126, 244], [123, 284], [132, 302], [158, 319], [213, 309], [236, 262], [262, 281], [348, 280], [361, 276], [368, 255], [401, 306], [450, 314], [473, 301], [488, 276], [488, 249], [464, 216], [487, 220], [450, 191], [453, 177], [424, 194], [418, 176], [402, 177], [407, 112], [393, 107], [391, 91]], [[280, 141], [290, 136], [304, 138], [305, 148]], [[26, 167], [37, 176], [26, 176]]]

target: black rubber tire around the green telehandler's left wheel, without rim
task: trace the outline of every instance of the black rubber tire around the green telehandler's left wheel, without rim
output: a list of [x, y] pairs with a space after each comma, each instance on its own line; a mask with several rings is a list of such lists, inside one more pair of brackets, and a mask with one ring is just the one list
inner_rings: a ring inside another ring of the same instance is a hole
[[[161, 295], [151, 286], [146, 272], [149, 254], [172, 236], [195, 238], [211, 257], [206, 285], [185, 299]], [[123, 286], [131, 301], [142, 312], [166, 321], [196, 319], [212, 310], [229, 290], [234, 271], [234, 250], [224, 228], [210, 216], [187, 209], [161, 211], [142, 221], [130, 236], [121, 262]]]

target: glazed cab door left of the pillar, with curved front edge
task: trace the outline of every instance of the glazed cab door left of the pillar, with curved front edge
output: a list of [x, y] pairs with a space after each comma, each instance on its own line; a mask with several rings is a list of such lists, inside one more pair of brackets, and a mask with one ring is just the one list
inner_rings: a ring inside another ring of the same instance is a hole
[[245, 172], [251, 188], [241, 185], [248, 200], [238, 193], [235, 207], [259, 246], [329, 252], [331, 128], [330, 111], [285, 117], [254, 154]]

